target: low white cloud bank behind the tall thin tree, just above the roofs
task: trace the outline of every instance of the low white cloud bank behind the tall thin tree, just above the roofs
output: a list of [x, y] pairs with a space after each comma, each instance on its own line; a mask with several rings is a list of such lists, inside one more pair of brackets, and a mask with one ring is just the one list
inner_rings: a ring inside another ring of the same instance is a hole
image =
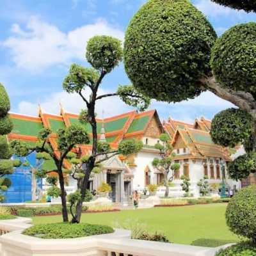
[[[106, 90], [99, 90], [99, 95], [109, 93]], [[89, 92], [85, 92], [84, 95], [89, 95]], [[76, 93], [56, 92], [49, 95], [49, 97], [42, 100], [42, 102], [28, 102], [22, 101], [19, 103], [18, 112], [24, 115], [38, 115], [38, 103], [45, 113], [60, 114], [60, 103], [67, 112], [79, 113], [81, 109], [86, 108], [85, 102]], [[99, 116], [102, 115], [104, 110], [105, 116], [113, 116], [124, 113], [131, 110], [126, 106], [118, 97], [108, 97], [97, 101], [96, 113]]]

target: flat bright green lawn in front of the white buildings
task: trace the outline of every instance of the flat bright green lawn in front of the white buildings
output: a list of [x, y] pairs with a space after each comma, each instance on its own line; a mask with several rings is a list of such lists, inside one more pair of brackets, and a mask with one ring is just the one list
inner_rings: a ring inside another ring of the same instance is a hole
[[[163, 231], [173, 243], [219, 246], [236, 242], [225, 223], [226, 204], [191, 205], [186, 207], [162, 207], [83, 214], [82, 221], [115, 226], [118, 222], [140, 221], [150, 231]], [[61, 216], [34, 217], [33, 223], [60, 222]]]

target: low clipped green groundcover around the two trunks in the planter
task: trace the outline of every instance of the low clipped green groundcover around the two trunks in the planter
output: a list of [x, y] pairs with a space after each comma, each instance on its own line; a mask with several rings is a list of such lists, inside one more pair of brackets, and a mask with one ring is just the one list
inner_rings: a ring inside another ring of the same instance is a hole
[[111, 227], [103, 225], [91, 225], [87, 223], [50, 223], [33, 225], [22, 232], [26, 236], [40, 236], [45, 239], [64, 239], [84, 236], [96, 236], [113, 233]]

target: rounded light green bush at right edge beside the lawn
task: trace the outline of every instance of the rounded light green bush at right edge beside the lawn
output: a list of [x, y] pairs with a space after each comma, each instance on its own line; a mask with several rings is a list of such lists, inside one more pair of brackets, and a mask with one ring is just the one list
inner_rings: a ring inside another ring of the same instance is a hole
[[256, 186], [243, 188], [232, 197], [226, 220], [232, 232], [256, 243]]

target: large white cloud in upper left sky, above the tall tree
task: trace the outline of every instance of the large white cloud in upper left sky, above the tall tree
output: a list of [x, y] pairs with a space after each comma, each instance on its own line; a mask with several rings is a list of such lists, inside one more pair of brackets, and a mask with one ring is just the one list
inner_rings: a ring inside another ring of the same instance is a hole
[[32, 71], [52, 65], [67, 65], [74, 58], [83, 60], [86, 42], [92, 36], [111, 35], [124, 39], [124, 32], [113, 28], [105, 20], [64, 33], [38, 17], [31, 17], [25, 29], [13, 24], [11, 32], [12, 36], [2, 45], [10, 49], [17, 67]]

